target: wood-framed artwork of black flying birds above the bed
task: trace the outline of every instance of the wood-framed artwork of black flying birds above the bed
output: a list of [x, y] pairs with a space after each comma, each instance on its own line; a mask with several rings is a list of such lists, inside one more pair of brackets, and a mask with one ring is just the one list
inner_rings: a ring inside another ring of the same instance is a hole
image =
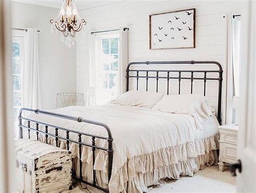
[[196, 9], [154, 13], [149, 16], [150, 49], [196, 47]]

